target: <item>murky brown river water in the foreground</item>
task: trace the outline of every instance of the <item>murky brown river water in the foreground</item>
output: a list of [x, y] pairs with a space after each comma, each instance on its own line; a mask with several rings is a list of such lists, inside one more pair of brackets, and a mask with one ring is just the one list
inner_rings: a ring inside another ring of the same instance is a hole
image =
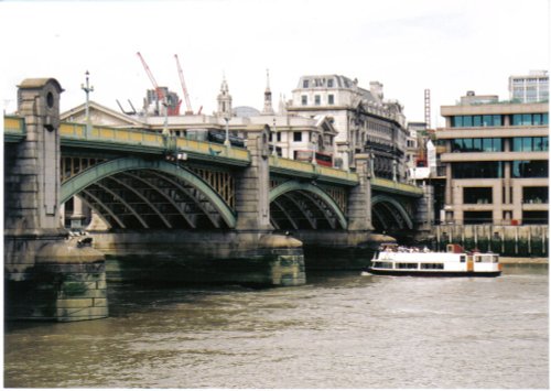
[[496, 279], [309, 273], [109, 284], [110, 317], [4, 326], [9, 388], [549, 388], [547, 265]]

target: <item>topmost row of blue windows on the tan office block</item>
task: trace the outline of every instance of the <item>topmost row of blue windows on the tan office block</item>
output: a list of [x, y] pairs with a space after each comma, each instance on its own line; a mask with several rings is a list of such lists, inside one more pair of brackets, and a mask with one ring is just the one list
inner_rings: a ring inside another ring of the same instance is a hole
[[[503, 127], [505, 126], [505, 117], [503, 115], [453, 116], [452, 128]], [[511, 115], [507, 117], [509, 117], [509, 123], [514, 127], [549, 124], [549, 113], [547, 112]]]

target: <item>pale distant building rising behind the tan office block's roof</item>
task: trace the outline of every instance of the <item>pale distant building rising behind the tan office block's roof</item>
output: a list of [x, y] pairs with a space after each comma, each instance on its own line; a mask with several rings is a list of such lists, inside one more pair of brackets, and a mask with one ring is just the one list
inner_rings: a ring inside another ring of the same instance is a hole
[[549, 74], [530, 70], [529, 75], [509, 77], [509, 99], [523, 104], [549, 100]]

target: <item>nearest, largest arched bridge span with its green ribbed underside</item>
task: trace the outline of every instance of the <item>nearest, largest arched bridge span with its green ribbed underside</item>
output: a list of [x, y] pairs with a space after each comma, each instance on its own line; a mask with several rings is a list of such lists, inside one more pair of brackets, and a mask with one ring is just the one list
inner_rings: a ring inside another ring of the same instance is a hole
[[202, 177], [163, 160], [121, 158], [62, 184], [61, 203], [78, 195], [111, 228], [234, 228], [236, 216]]

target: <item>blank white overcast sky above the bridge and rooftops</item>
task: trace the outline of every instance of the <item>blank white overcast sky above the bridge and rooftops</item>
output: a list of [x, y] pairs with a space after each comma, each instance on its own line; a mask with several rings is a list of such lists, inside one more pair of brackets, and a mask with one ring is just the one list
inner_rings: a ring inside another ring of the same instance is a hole
[[179, 55], [195, 111], [216, 109], [223, 74], [234, 107], [262, 109], [269, 68], [274, 107], [302, 75], [339, 74], [382, 83], [409, 121], [424, 119], [430, 88], [434, 126], [467, 90], [508, 99], [510, 75], [547, 69], [549, 18], [548, 0], [0, 1], [0, 104], [11, 112], [19, 83], [55, 77], [68, 110], [89, 70], [93, 100], [141, 108], [139, 51], [183, 97]]

